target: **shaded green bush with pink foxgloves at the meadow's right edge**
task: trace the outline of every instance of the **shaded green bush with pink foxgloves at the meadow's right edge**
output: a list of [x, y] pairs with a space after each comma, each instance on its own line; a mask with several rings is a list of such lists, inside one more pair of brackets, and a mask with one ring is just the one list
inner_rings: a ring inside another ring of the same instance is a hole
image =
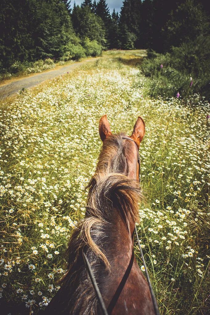
[[179, 91], [183, 97], [194, 92], [210, 98], [210, 37], [205, 38], [205, 47], [202, 41], [201, 38], [172, 47], [171, 53], [148, 52], [141, 71], [151, 79], [148, 80], [149, 95], [171, 97]]

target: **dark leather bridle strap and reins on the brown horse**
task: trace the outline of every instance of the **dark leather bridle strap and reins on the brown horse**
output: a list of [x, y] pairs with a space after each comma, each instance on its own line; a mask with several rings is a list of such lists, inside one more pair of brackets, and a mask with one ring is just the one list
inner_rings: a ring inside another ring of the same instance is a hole
[[[122, 139], [127, 139], [127, 140], [133, 141], [135, 143], [135, 141], [133, 139], [131, 139], [130, 137], [128, 137], [128, 136], [123, 136]], [[136, 143], [135, 143], [135, 147], [136, 147], [138, 164], [139, 164], [139, 182], [140, 182], [140, 157], [139, 157], [139, 149], [138, 149]], [[154, 306], [154, 311], [155, 311], [156, 315], [160, 315], [159, 307], [158, 307], [157, 300], [156, 300], [156, 297], [155, 297], [155, 294], [154, 294], [154, 291], [153, 291], [153, 288], [152, 288], [152, 284], [151, 284], [150, 276], [149, 276], [149, 273], [148, 273], [148, 270], [147, 270], [147, 266], [146, 266], [146, 263], [145, 263], [143, 251], [142, 251], [142, 248], [141, 248], [141, 244], [139, 242], [139, 236], [138, 236], [138, 233], [137, 233], [136, 225], [135, 225], [135, 233], [136, 233], [136, 238], [137, 238], [139, 249], [140, 249], [140, 253], [141, 253], [141, 259], [142, 259], [143, 265], [145, 267], [145, 274], [146, 274], [147, 282], [148, 282], [149, 289], [150, 289], [150, 294], [151, 294], [151, 298], [152, 298], [152, 302], [153, 302], [153, 306]], [[87, 270], [88, 270], [88, 275], [90, 277], [90, 281], [91, 281], [91, 283], [92, 283], [92, 285], [94, 287], [96, 296], [97, 296], [97, 298], [99, 300], [99, 304], [101, 306], [101, 311], [102, 311], [103, 315], [109, 315], [108, 312], [107, 312], [104, 300], [102, 298], [102, 295], [100, 293], [98, 284], [97, 284], [97, 282], [95, 280], [92, 268], [90, 266], [90, 263], [88, 261], [88, 258], [86, 256], [86, 254], [84, 252], [83, 252], [83, 259], [85, 261], [85, 264], [86, 264], [86, 267], [87, 267]]]

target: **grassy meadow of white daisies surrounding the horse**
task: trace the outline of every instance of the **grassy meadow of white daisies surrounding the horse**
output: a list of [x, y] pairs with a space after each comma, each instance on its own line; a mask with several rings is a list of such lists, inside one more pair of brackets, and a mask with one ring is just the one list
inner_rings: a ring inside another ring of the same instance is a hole
[[[37, 314], [59, 289], [107, 114], [128, 135], [145, 120], [138, 231], [161, 314], [208, 314], [210, 105], [199, 95], [150, 98], [133, 62], [143, 54], [107, 52], [1, 103], [0, 296], [9, 305]], [[135, 254], [143, 269], [136, 245]]]

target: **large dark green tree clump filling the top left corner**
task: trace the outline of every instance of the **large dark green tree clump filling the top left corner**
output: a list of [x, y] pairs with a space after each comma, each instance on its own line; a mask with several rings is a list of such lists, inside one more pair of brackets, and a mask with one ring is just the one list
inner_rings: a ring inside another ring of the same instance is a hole
[[15, 60], [62, 56], [62, 47], [73, 33], [63, 1], [2, 0], [1, 12], [0, 61], [4, 67]]

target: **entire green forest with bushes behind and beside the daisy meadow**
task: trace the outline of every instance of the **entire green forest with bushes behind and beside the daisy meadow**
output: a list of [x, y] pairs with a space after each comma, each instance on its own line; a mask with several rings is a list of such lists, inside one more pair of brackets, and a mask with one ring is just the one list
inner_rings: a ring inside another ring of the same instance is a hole
[[[188, 95], [191, 77], [193, 92], [210, 97], [205, 0], [125, 0], [119, 13], [110, 12], [106, 0], [85, 0], [81, 6], [69, 0], [2, 0], [0, 29], [2, 74], [18, 72], [36, 60], [68, 61], [107, 49], [148, 49], [142, 71], [158, 81], [151, 96], [168, 95], [168, 80]], [[160, 65], [164, 78], [157, 74]]]

